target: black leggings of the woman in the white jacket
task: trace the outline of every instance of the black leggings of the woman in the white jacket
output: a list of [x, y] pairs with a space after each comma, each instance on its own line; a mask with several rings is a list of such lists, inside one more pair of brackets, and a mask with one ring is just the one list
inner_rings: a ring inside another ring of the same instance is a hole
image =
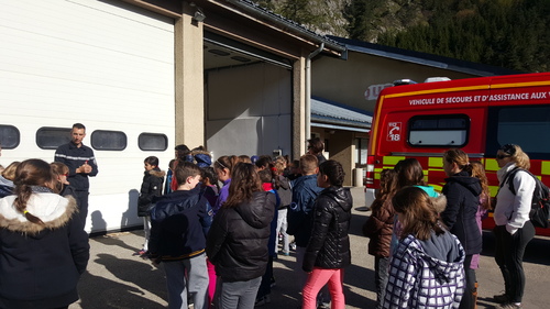
[[524, 253], [535, 236], [535, 227], [527, 221], [514, 235], [506, 225], [497, 225], [495, 233], [495, 261], [504, 277], [504, 288], [512, 302], [521, 302], [525, 289]]

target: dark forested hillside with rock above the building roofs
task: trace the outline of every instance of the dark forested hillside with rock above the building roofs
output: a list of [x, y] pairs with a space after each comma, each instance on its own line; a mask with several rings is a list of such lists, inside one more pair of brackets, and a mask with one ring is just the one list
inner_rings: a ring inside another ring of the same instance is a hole
[[550, 0], [257, 0], [321, 34], [550, 70]]

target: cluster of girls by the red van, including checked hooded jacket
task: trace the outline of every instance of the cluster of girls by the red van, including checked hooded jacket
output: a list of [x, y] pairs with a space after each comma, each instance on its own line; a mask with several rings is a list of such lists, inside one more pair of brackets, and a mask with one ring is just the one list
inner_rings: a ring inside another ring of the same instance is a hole
[[443, 169], [442, 195], [426, 185], [416, 158], [381, 173], [363, 225], [375, 256], [376, 308], [475, 308], [487, 178], [457, 148], [443, 154]]

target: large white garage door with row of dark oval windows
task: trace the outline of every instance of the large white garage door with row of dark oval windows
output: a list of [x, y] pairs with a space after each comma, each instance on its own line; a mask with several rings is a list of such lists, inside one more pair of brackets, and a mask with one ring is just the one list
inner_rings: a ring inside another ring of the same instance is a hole
[[[130, 192], [140, 188], [143, 159], [156, 155], [166, 169], [173, 156], [174, 20], [119, 1], [1, 1], [0, 42], [0, 124], [21, 132], [2, 164], [53, 161], [53, 150], [36, 145], [40, 128], [82, 122], [87, 145], [95, 130], [121, 131], [124, 150], [95, 151], [90, 213], [105, 222], [87, 227], [139, 224]], [[168, 150], [140, 150], [143, 132], [165, 134]]]

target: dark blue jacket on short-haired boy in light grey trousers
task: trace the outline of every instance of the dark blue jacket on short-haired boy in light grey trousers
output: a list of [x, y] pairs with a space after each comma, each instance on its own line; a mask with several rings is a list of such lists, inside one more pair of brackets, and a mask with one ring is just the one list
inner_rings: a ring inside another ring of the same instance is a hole
[[205, 252], [212, 212], [200, 187], [155, 198], [151, 210], [151, 258], [177, 261]]

